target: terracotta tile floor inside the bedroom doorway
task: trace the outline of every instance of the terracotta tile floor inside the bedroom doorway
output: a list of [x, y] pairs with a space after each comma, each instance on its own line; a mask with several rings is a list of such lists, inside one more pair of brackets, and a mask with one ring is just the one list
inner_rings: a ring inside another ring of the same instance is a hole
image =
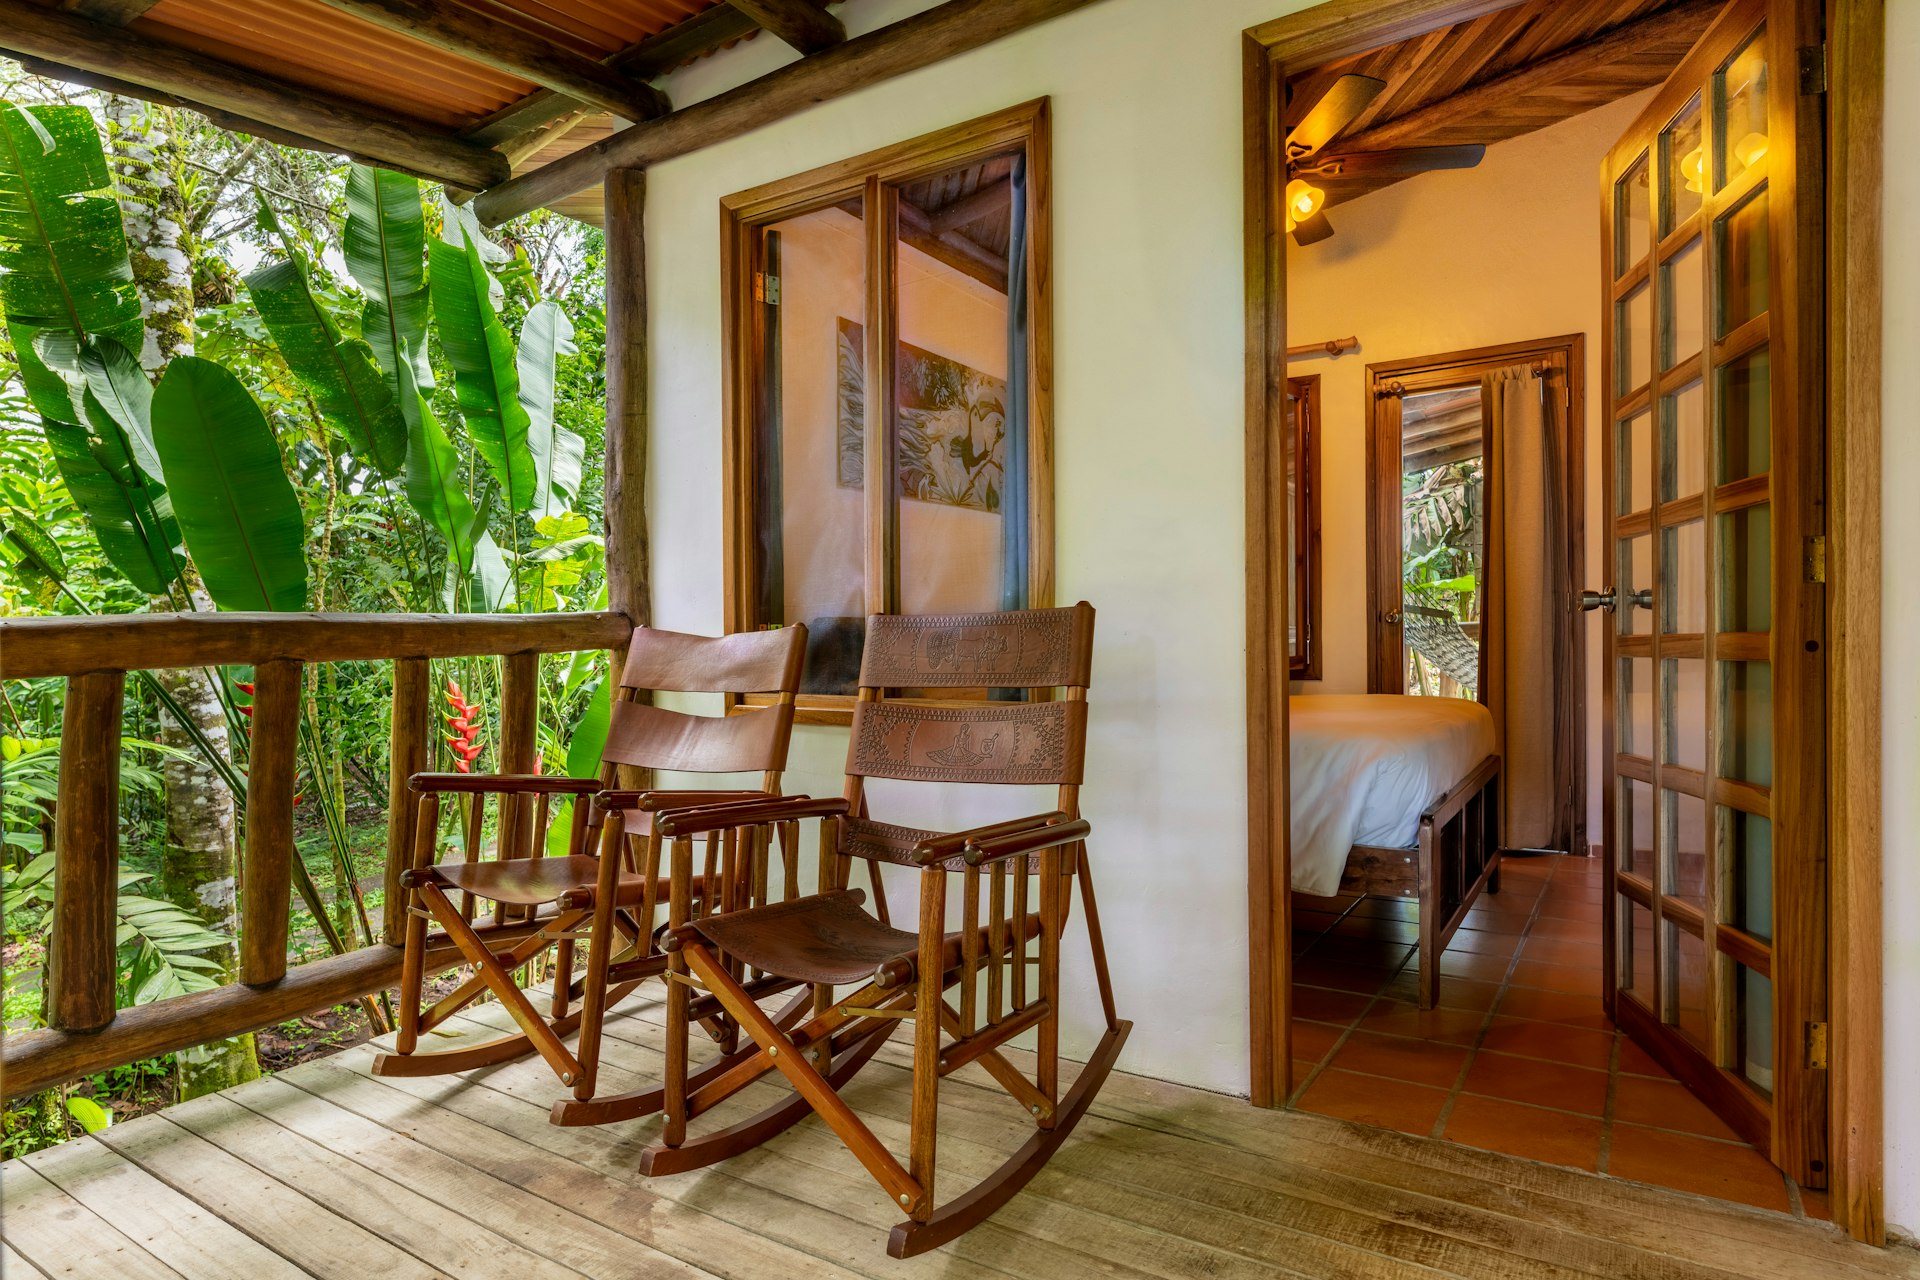
[[1415, 904], [1294, 898], [1294, 1098], [1551, 1165], [1828, 1217], [1615, 1031], [1599, 1006], [1601, 865], [1511, 858], [1415, 994]]

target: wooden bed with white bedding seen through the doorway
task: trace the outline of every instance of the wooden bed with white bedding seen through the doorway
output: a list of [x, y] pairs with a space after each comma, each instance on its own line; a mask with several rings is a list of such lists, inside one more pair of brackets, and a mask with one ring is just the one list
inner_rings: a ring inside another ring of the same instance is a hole
[[1500, 756], [1478, 702], [1288, 700], [1292, 889], [1419, 900], [1419, 1000], [1482, 890], [1500, 892]]

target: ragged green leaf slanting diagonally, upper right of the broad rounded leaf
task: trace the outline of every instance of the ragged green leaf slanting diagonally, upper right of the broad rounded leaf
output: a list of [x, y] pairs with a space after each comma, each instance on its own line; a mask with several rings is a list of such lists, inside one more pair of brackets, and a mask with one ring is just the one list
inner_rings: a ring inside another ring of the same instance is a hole
[[397, 474], [407, 464], [407, 420], [394, 384], [369, 344], [334, 328], [307, 286], [305, 263], [288, 248], [286, 261], [261, 267], [246, 286], [286, 367], [313, 393], [326, 424], [380, 476]]

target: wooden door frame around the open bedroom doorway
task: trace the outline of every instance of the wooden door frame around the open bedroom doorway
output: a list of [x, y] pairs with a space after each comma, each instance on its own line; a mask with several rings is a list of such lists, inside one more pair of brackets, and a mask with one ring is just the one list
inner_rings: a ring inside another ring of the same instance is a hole
[[[1513, 0], [1327, 0], [1250, 27], [1244, 81], [1246, 768], [1252, 1102], [1290, 1084], [1286, 814], [1286, 240], [1279, 94], [1311, 67], [1509, 8]], [[1820, 0], [1801, 0], [1816, 6]], [[1834, 4], [1828, 90], [1828, 714], [1830, 1165], [1834, 1219], [1882, 1244], [1880, 923], [1880, 190], [1884, 0]]]

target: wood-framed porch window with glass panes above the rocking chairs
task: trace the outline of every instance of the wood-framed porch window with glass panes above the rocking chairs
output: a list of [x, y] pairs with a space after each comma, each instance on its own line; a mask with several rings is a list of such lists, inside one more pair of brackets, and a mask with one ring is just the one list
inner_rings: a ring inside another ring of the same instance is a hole
[[868, 614], [1052, 604], [1046, 121], [720, 201], [726, 622], [806, 624], [803, 722], [849, 720]]

